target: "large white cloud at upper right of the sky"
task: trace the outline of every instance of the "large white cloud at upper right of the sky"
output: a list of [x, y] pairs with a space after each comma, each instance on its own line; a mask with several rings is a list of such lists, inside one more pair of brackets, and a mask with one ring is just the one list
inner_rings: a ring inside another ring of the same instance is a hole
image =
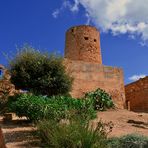
[[101, 31], [114, 35], [129, 33], [148, 41], [148, 0], [65, 0], [71, 12], [85, 8], [87, 19]]

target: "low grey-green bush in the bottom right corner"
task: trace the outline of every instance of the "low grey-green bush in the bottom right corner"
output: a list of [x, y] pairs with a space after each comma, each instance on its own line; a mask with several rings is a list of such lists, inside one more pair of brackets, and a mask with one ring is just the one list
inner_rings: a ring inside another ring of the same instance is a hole
[[129, 134], [120, 138], [108, 139], [109, 148], [147, 148], [148, 137]]

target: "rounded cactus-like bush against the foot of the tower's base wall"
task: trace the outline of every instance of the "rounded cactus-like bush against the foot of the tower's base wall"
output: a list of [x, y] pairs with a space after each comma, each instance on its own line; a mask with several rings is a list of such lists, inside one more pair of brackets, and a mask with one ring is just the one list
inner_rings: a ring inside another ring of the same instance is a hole
[[86, 93], [85, 98], [94, 101], [94, 108], [96, 110], [103, 111], [114, 106], [111, 96], [102, 89]]

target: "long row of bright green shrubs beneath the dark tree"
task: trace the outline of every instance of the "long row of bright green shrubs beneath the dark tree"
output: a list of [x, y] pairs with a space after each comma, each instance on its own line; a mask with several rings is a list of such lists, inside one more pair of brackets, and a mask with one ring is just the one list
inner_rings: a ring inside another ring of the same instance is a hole
[[65, 96], [43, 97], [32, 94], [20, 94], [9, 98], [9, 111], [19, 117], [37, 121], [43, 118], [61, 120], [80, 117], [90, 120], [96, 116], [89, 99], [74, 99]]

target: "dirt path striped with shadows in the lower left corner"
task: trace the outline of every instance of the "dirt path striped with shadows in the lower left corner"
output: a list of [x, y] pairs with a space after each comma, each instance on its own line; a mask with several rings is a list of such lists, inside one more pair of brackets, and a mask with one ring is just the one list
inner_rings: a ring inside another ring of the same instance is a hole
[[36, 136], [36, 128], [25, 120], [17, 119], [4, 124], [0, 117], [0, 125], [7, 148], [38, 148], [39, 140]]

